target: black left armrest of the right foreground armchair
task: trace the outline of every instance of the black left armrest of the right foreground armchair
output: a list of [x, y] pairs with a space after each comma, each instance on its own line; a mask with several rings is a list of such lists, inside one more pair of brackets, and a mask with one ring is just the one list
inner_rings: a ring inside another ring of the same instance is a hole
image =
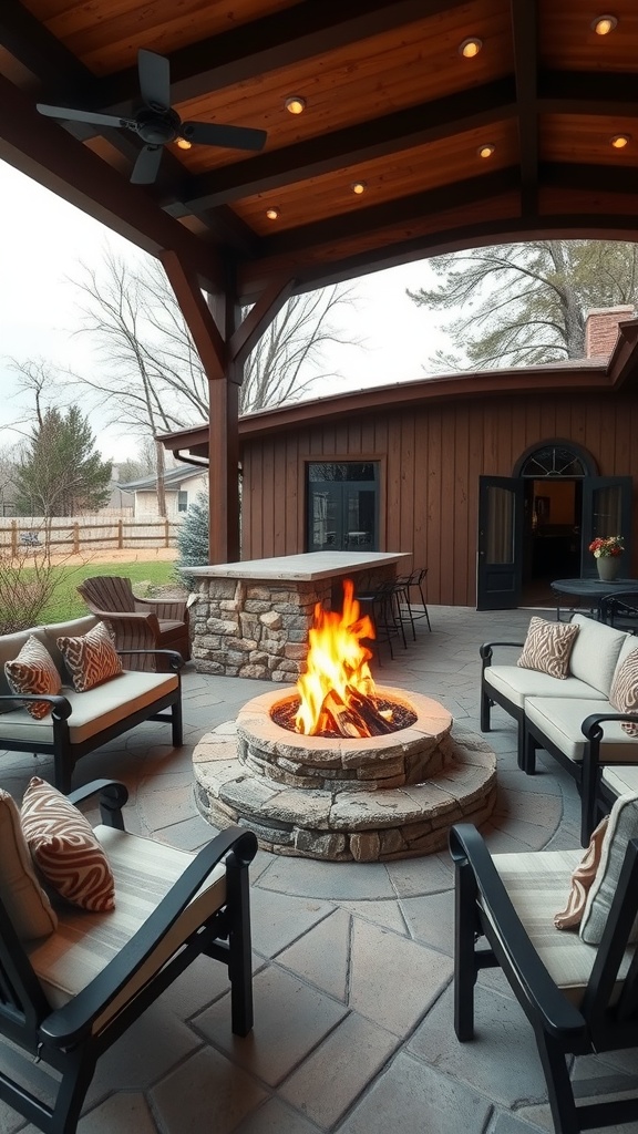
[[457, 869], [469, 865], [472, 870], [481, 906], [496, 929], [497, 941], [490, 943], [497, 953], [498, 962], [502, 963], [502, 957], [506, 960], [507, 971], [515, 976], [534, 1010], [542, 1015], [547, 1031], [560, 1035], [562, 1041], [565, 1033], [570, 1033], [570, 1042], [578, 1042], [579, 1036], [585, 1039], [587, 1025], [584, 1017], [561, 992], [540, 960], [503, 886], [485, 840], [472, 823], [452, 827], [450, 854]]

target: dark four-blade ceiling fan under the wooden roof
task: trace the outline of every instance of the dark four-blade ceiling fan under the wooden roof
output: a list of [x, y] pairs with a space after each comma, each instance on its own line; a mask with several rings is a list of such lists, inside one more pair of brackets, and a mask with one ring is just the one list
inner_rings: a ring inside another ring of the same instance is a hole
[[176, 138], [185, 138], [198, 145], [227, 146], [230, 150], [263, 147], [268, 136], [266, 130], [253, 130], [245, 126], [218, 126], [217, 122], [183, 122], [170, 105], [170, 69], [169, 61], [163, 56], [141, 49], [137, 52], [137, 70], [144, 105], [133, 118], [75, 110], [73, 107], [48, 107], [42, 102], [36, 103], [37, 110], [49, 118], [91, 122], [93, 126], [123, 126], [137, 134], [146, 144], [140, 151], [131, 174], [134, 185], [151, 185], [154, 181], [162, 146]]

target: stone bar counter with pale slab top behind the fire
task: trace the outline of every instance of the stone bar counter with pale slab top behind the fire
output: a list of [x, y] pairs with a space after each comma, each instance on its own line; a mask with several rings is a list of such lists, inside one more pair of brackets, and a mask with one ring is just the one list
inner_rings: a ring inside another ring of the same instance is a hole
[[193, 660], [200, 674], [296, 680], [314, 604], [341, 610], [343, 579], [355, 592], [396, 575], [401, 551], [309, 551], [190, 568], [198, 579]]

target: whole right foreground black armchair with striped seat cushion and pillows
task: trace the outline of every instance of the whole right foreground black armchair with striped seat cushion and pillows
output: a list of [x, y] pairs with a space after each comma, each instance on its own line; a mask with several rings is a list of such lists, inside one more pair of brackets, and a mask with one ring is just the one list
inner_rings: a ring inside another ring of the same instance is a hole
[[638, 1119], [636, 1082], [622, 1098], [577, 1102], [569, 1070], [570, 1056], [638, 1047], [638, 794], [603, 824], [585, 858], [580, 848], [490, 855], [471, 824], [450, 832], [456, 1035], [473, 1038], [478, 973], [500, 966], [534, 1029], [556, 1134]]

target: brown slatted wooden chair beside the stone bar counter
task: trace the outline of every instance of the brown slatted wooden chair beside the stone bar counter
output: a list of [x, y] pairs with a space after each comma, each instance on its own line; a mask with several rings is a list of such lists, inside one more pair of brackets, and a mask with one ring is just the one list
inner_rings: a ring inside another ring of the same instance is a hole
[[[117, 575], [85, 578], [77, 590], [91, 612], [109, 623], [117, 650], [177, 650], [184, 661], [188, 661], [191, 640], [186, 602], [137, 599], [131, 579]], [[127, 668], [165, 669], [161, 655], [153, 658], [143, 653], [131, 655]], [[166, 670], [169, 669], [167, 659]]]

